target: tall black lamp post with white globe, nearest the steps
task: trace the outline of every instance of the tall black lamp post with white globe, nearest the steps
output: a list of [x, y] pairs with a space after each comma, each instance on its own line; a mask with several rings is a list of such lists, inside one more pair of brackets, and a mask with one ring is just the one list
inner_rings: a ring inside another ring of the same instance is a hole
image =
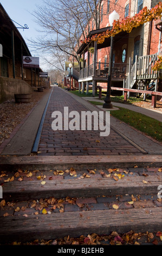
[[[109, 24], [112, 28], [114, 20], [119, 20], [119, 14], [114, 10], [109, 15]], [[107, 93], [105, 98], [105, 103], [103, 103], [103, 108], [113, 108], [111, 103], [111, 83], [112, 83], [112, 60], [113, 60], [113, 44], [114, 38], [111, 36], [111, 50], [109, 54], [109, 67], [108, 67], [108, 79], [107, 79]]]

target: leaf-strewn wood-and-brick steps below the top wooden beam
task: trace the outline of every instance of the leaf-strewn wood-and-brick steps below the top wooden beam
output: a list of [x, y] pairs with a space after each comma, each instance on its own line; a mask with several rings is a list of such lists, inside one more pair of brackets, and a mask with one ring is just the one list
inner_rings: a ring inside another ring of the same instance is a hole
[[2, 171], [0, 243], [162, 231], [159, 167]]

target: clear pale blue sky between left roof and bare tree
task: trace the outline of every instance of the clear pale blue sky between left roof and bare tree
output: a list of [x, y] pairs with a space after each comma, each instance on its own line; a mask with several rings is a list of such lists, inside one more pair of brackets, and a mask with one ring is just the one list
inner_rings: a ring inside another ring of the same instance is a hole
[[[30, 39], [36, 39], [37, 36], [40, 36], [40, 33], [37, 32], [39, 27], [34, 21], [34, 17], [31, 15], [31, 13], [34, 13], [36, 10], [36, 5], [43, 5], [43, 0], [0, 0], [0, 3], [11, 20], [16, 21], [22, 26], [24, 26], [24, 24], [28, 25], [29, 29], [18, 29], [18, 31], [23, 36], [31, 55], [40, 57], [40, 68], [43, 69], [43, 71], [46, 71], [49, 66], [44, 64], [41, 55], [32, 50], [29, 45], [30, 42], [28, 41]], [[16, 27], [20, 27], [16, 23], [14, 24]]]

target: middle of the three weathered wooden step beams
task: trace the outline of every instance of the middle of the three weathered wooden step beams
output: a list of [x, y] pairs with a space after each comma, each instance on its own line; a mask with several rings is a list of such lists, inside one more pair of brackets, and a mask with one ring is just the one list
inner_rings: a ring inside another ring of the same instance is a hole
[[[94, 175], [95, 176], [95, 175]], [[116, 176], [118, 179], [118, 176]], [[151, 194], [158, 193], [161, 175], [125, 176], [115, 181], [108, 178], [85, 179], [44, 179], [11, 181], [3, 184], [3, 198], [5, 200], [28, 200], [48, 197], [89, 197], [113, 196], [116, 194]]]

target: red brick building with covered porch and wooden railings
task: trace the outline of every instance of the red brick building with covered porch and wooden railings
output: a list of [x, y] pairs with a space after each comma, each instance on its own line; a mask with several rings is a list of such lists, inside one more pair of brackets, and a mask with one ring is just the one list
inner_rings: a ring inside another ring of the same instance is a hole
[[[109, 14], [112, 11], [115, 10], [119, 14], [119, 21], [121, 21], [126, 16], [132, 17], [138, 14], [144, 7], [153, 8], [158, 2], [156, 0], [103, 0], [100, 8], [100, 29], [95, 28], [93, 19], [89, 23], [90, 26], [85, 29], [89, 31], [89, 37], [100, 34], [111, 29]], [[114, 36], [112, 86], [146, 89], [149, 84], [153, 83], [154, 89], [161, 91], [160, 84], [158, 86], [158, 73], [154, 72], [153, 74], [152, 71], [148, 71], [157, 60], [157, 53], [161, 48], [161, 32], [155, 26], [159, 21], [153, 20], [132, 29], [131, 33], [123, 32]], [[96, 85], [107, 88], [106, 70], [109, 66], [110, 44], [111, 40], [105, 39], [103, 44], [95, 45], [95, 42], [90, 42], [80, 46], [77, 51], [81, 59], [80, 88], [84, 89], [89, 84], [93, 84], [93, 88]], [[89, 52], [91, 47], [96, 47], [96, 49]], [[146, 65], [148, 66], [144, 70]], [[133, 69], [136, 70], [137, 74], [132, 75]], [[131, 76], [133, 77], [131, 78]]]

